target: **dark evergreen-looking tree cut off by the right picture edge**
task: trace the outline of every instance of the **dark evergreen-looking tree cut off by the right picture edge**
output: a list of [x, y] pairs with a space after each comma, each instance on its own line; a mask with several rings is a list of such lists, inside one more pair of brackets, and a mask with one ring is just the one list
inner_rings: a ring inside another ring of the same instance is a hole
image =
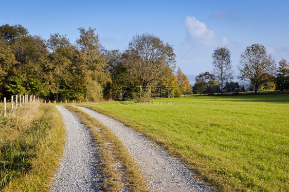
[[289, 63], [287, 60], [282, 59], [279, 62], [277, 75], [275, 79], [276, 90], [282, 91], [289, 89]]

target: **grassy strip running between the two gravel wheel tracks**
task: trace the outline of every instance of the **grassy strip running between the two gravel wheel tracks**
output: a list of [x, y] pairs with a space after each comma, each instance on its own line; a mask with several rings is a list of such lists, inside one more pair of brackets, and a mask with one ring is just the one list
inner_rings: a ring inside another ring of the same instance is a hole
[[[127, 185], [129, 191], [148, 191], [137, 165], [114, 133], [87, 113], [73, 106], [65, 107], [73, 111], [92, 132], [102, 164], [103, 189], [118, 191]], [[116, 168], [116, 164], [121, 166]]]

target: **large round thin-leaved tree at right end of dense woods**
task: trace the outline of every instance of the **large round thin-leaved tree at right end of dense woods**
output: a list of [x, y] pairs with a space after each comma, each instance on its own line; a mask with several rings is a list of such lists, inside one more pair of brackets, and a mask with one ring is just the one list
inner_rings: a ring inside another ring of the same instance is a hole
[[153, 83], [164, 78], [175, 68], [173, 48], [152, 34], [137, 34], [129, 43], [128, 50], [122, 55], [129, 78], [142, 86], [144, 91]]

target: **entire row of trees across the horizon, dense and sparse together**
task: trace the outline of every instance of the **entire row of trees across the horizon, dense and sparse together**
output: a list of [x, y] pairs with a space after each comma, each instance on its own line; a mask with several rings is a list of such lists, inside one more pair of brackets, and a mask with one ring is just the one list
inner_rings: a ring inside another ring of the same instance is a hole
[[[79, 27], [78, 31], [79, 38], [72, 44], [59, 33], [44, 40], [21, 25], [0, 26], [1, 97], [33, 94], [56, 101], [97, 101], [114, 99], [121, 87], [135, 92], [170, 87], [175, 97], [192, 91], [187, 76], [180, 68], [176, 70], [172, 46], [159, 37], [136, 34], [127, 50], [120, 52], [105, 49], [95, 29]], [[223, 92], [234, 86], [228, 83], [233, 73], [229, 49], [217, 48], [212, 58], [213, 74], [204, 72], [196, 78], [194, 89], [200, 93]], [[262, 45], [246, 48], [239, 70], [240, 78], [249, 79], [255, 91], [270, 79], [276, 89], [288, 89], [287, 61], [282, 60], [276, 70]]]

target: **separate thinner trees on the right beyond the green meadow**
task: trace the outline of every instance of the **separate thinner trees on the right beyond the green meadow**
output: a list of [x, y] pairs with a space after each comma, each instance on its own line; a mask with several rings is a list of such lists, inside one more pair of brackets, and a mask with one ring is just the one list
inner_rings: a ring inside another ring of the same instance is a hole
[[[245, 91], [244, 85], [240, 87], [238, 82], [229, 83], [233, 79], [230, 50], [218, 47], [211, 57], [213, 72], [206, 71], [196, 76], [193, 91], [200, 94]], [[282, 59], [277, 67], [272, 55], [267, 53], [263, 45], [247, 46], [240, 55], [238, 70], [239, 79], [250, 81], [249, 91], [256, 93], [261, 86], [282, 92], [289, 90], [289, 63]]]

